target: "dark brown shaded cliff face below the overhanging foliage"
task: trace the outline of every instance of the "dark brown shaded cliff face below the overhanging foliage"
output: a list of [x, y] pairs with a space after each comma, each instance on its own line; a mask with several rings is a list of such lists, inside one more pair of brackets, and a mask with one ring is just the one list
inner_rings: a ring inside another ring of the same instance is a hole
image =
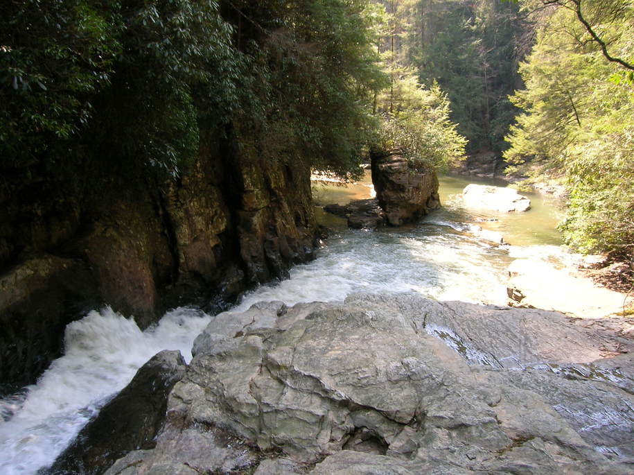
[[4, 170], [0, 393], [35, 381], [87, 309], [109, 304], [147, 327], [185, 302], [220, 309], [311, 259], [308, 167], [265, 163], [231, 134], [202, 144], [164, 182], [73, 159], [64, 173]]

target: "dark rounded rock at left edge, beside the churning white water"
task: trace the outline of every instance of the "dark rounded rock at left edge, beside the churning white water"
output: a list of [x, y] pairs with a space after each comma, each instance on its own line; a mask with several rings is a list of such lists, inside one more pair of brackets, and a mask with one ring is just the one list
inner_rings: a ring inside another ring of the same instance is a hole
[[61, 355], [66, 325], [98, 299], [76, 259], [36, 254], [0, 275], [0, 395], [35, 381]]

